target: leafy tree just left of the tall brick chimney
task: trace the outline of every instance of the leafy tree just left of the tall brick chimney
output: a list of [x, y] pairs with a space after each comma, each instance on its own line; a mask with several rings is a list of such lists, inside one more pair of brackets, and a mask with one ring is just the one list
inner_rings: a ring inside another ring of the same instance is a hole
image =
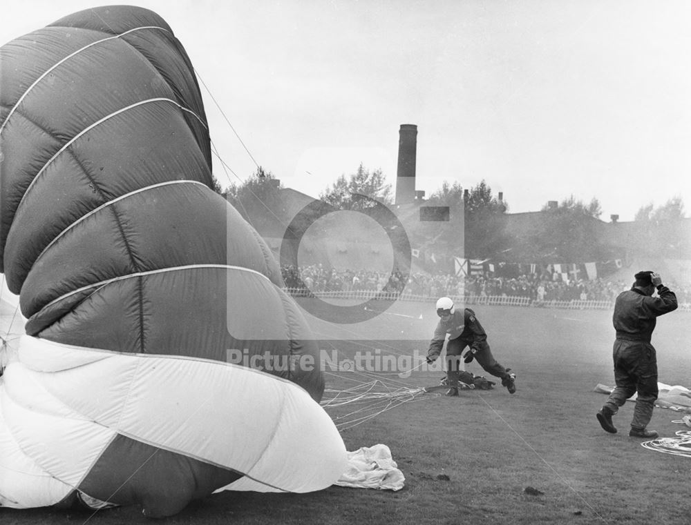
[[363, 164], [360, 164], [357, 172], [350, 177], [341, 175], [330, 189], [319, 195], [319, 198], [337, 210], [367, 208], [367, 201], [353, 197], [354, 194], [365, 195], [381, 204], [393, 204], [391, 185], [386, 183], [384, 173], [381, 169], [370, 172]]

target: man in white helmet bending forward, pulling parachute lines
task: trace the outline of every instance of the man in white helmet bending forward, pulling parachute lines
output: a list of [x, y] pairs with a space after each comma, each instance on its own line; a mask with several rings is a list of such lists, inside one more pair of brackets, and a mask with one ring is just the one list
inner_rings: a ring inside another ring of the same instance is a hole
[[439, 323], [435, 328], [432, 341], [430, 341], [427, 362], [428, 364], [433, 363], [439, 357], [446, 335], [448, 335], [446, 379], [450, 388], [446, 395], [458, 395], [460, 357], [466, 346], [470, 346], [470, 350], [466, 352], [464, 362], [470, 363], [473, 358], [477, 359], [477, 362], [486, 372], [501, 377], [502, 385], [507, 387], [510, 394], [513, 394], [516, 391], [515, 374], [510, 374], [511, 368], [504, 368], [494, 359], [489, 344], [487, 344], [487, 334], [480, 321], [475, 317], [475, 312], [470, 308], [457, 310], [449, 297], [442, 297], [437, 301], [437, 315], [439, 316]]

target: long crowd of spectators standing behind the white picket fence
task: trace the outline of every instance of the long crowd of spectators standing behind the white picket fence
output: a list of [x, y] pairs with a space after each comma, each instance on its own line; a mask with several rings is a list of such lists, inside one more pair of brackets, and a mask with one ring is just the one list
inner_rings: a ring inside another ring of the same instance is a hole
[[[608, 279], [571, 279], [564, 281], [550, 275], [520, 275], [517, 278], [495, 277], [490, 273], [456, 276], [438, 273], [404, 275], [377, 270], [327, 268], [321, 264], [303, 268], [287, 266], [281, 269], [286, 288], [307, 289], [312, 293], [384, 290], [422, 297], [460, 296], [467, 299], [482, 297], [526, 297], [540, 306], [549, 301], [614, 301], [616, 296], [631, 287], [631, 282]], [[691, 303], [691, 286], [665, 282], [676, 293], [680, 304]]]

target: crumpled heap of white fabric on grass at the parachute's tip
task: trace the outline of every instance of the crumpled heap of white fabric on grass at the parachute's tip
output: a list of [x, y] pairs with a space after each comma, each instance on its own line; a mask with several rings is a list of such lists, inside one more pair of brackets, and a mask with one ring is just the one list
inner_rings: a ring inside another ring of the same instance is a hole
[[377, 444], [348, 452], [348, 468], [335, 485], [399, 491], [405, 480], [388, 446]]

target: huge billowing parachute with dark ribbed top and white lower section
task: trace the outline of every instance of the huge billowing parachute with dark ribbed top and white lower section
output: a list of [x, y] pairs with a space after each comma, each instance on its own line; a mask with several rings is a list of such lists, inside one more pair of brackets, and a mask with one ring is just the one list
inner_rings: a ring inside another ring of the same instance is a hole
[[0, 379], [0, 504], [162, 516], [336, 481], [316, 344], [261, 237], [209, 189], [167, 23], [85, 10], [3, 46], [1, 68], [1, 264], [27, 322]]

